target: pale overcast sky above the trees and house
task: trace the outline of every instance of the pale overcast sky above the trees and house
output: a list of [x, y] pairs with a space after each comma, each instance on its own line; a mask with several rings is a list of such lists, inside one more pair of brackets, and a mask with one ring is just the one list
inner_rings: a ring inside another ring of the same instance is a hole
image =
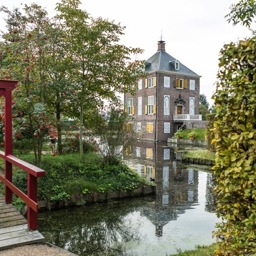
[[[165, 50], [183, 65], [202, 76], [200, 93], [211, 96], [215, 91], [218, 54], [224, 43], [251, 35], [250, 30], [227, 23], [224, 16], [238, 0], [80, 0], [81, 8], [93, 17], [103, 17], [121, 23], [124, 30], [121, 43], [144, 49], [137, 59], [147, 60], [157, 51], [157, 41], [165, 41]], [[56, 0], [6, 1], [8, 8], [22, 8], [21, 3], [43, 6], [54, 16]], [[1, 4], [2, 5], [2, 4]], [[3, 29], [3, 14], [0, 14]]]

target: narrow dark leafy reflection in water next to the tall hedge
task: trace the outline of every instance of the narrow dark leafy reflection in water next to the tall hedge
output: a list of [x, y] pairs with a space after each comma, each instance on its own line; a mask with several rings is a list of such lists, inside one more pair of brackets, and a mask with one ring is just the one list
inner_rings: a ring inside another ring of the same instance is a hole
[[216, 194], [213, 192], [213, 189], [216, 186], [216, 178], [212, 173], [207, 174], [206, 181], [206, 202], [205, 202], [205, 211], [215, 211], [216, 208]]

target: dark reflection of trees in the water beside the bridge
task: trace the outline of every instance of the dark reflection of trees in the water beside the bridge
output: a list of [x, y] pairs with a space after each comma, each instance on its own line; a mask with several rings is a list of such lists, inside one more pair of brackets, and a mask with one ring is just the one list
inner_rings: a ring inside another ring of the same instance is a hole
[[78, 255], [122, 255], [122, 243], [139, 240], [140, 234], [126, 221], [134, 207], [117, 205], [114, 210], [113, 205], [112, 209], [108, 205], [79, 207], [73, 209], [72, 215], [69, 209], [41, 213], [40, 232], [47, 242]]

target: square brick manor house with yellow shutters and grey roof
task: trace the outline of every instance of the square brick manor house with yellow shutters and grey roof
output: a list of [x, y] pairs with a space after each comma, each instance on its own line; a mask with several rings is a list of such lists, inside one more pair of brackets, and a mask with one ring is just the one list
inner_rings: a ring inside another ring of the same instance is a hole
[[170, 56], [165, 41], [158, 41], [157, 52], [146, 60], [145, 75], [138, 79], [134, 96], [124, 95], [124, 110], [143, 139], [167, 141], [185, 124], [202, 121], [201, 76]]

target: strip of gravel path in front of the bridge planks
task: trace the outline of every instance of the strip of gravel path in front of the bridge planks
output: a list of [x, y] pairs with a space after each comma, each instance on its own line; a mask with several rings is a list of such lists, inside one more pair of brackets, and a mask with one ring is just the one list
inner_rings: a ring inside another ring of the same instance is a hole
[[0, 251], [0, 256], [75, 256], [74, 253], [47, 244], [32, 244]]

